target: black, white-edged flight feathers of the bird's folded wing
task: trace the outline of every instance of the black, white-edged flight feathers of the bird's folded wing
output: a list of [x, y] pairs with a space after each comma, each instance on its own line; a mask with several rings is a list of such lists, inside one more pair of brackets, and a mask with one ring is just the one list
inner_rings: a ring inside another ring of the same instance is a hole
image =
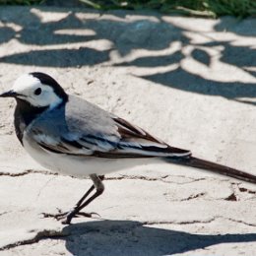
[[[189, 157], [189, 151], [172, 148], [153, 137], [143, 129], [124, 119], [109, 117], [113, 121], [113, 131], [106, 129], [98, 133], [90, 127], [83, 131], [71, 132], [67, 127], [63, 133], [47, 133], [37, 126], [32, 132], [34, 140], [45, 151], [71, 156], [96, 157], [108, 159], [153, 158], [153, 157]], [[115, 126], [115, 127], [114, 127]], [[58, 135], [58, 136], [56, 136]]]

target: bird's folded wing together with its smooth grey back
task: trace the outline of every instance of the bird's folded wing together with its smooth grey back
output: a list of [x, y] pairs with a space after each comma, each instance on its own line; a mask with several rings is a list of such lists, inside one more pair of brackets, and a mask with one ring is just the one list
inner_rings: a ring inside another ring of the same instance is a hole
[[78, 97], [62, 111], [46, 113], [30, 130], [42, 149], [56, 154], [111, 159], [191, 155]]

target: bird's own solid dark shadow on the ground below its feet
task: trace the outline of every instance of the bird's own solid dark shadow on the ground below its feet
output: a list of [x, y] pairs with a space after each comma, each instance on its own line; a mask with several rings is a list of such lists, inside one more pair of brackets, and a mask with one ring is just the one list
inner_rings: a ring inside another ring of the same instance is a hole
[[256, 241], [256, 233], [196, 234], [133, 221], [96, 221], [65, 226], [66, 248], [73, 255], [171, 255], [221, 243]]

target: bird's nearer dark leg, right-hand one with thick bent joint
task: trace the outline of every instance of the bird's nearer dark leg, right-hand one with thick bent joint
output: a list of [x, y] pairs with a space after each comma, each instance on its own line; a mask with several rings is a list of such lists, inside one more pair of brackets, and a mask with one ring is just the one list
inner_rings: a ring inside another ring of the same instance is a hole
[[68, 213], [68, 215], [66, 216], [66, 219], [62, 222], [63, 224], [70, 224], [71, 220], [77, 216], [92, 217], [92, 214], [87, 214], [87, 213], [83, 213], [80, 211], [83, 208], [85, 208], [86, 206], [88, 206], [92, 201], [94, 201], [98, 196], [100, 196], [103, 193], [104, 185], [102, 183], [102, 179], [100, 178], [100, 176], [97, 176], [96, 174], [91, 174], [90, 177], [94, 182], [94, 187], [96, 188], [96, 193], [93, 196], [91, 196], [89, 199], [87, 199], [86, 201], [85, 201], [86, 197], [83, 196], [83, 198], [81, 198], [81, 200], [79, 200], [79, 202], [76, 205], [76, 207], [74, 208], [74, 210], [72, 210], [70, 213]]

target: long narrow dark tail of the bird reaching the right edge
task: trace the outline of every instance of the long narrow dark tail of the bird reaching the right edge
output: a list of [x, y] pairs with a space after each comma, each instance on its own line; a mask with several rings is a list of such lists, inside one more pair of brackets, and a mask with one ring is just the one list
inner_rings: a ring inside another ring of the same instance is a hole
[[195, 168], [210, 170], [225, 176], [244, 180], [250, 183], [256, 184], [256, 176], [238, 169], [230, 168], [219, 163], [215, 163], [209, 160], [200, 160], [194, 157], [187, 159], [171, 159], [168, 158], [169, 162], [181, 165], [187, 165]]

